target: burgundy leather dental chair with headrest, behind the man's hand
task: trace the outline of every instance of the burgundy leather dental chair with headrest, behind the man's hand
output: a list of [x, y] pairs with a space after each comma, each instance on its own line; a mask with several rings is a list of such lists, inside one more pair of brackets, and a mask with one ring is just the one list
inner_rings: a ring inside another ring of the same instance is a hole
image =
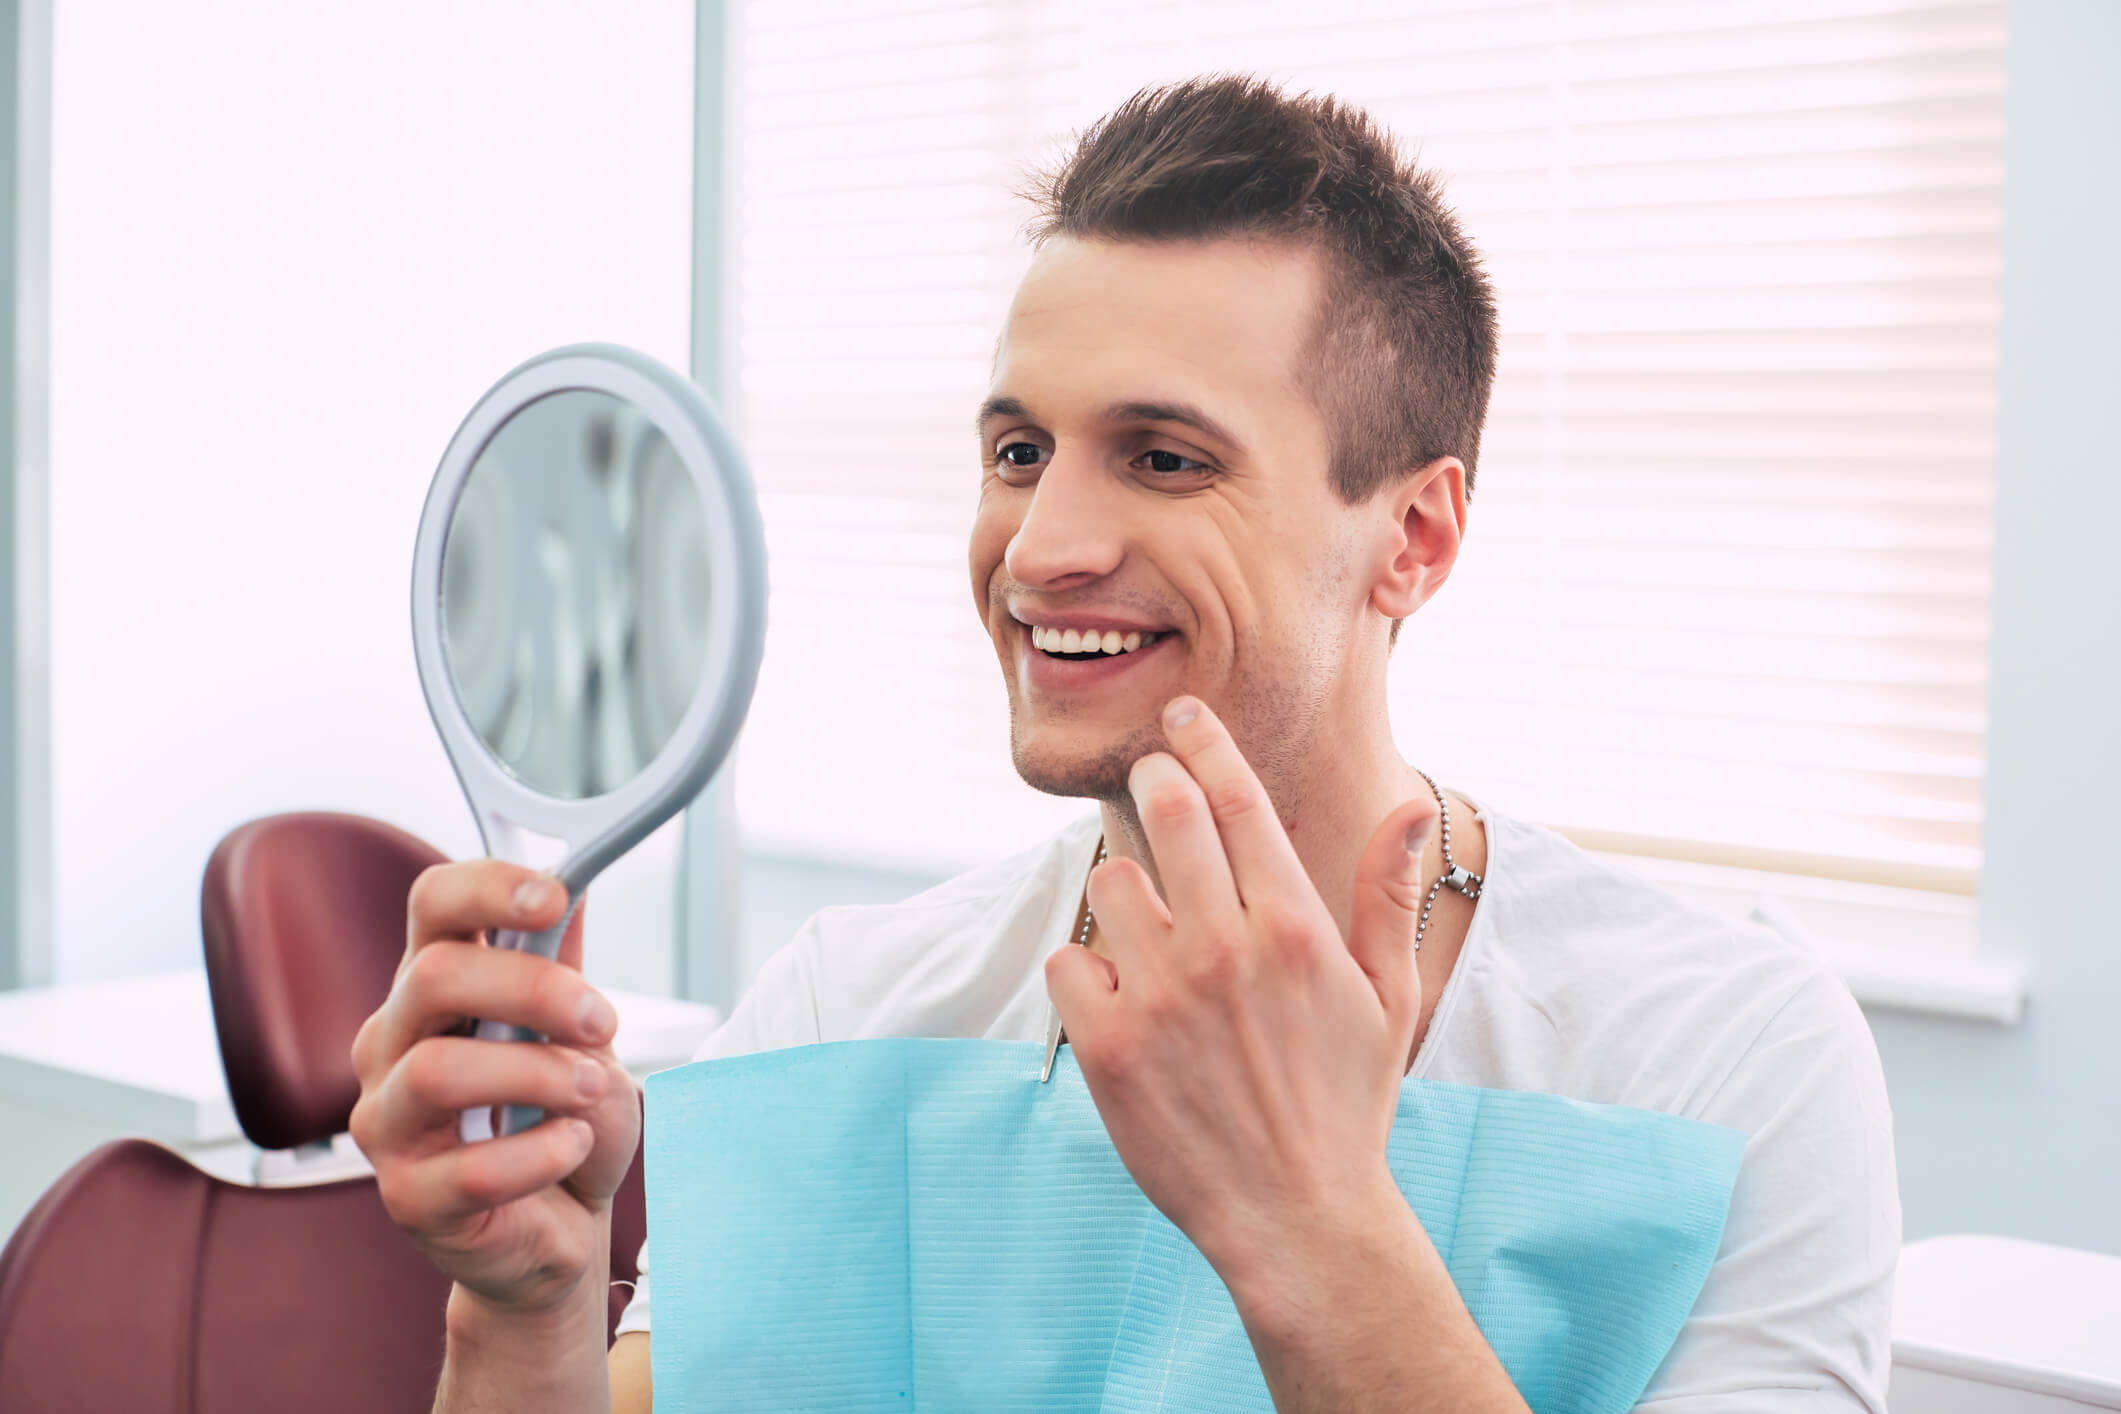
[[[405, 895], [439, 861], [348, 814], [221, 842], [199, 901], [221, 1060], [244, 1134], [295, 1162], [246, 1187], [123, 1138], [53, 1183], [0, 1251], [6, 1414], [428, 1408], [448, 1278], [373, 1177], [320, 1183], [299, 1160], [329, 1157], [348, 1126], [348, 1049], [403, 956]], [[607, 1340], [645, 1232], [636, 1153], [613, 1202]]]

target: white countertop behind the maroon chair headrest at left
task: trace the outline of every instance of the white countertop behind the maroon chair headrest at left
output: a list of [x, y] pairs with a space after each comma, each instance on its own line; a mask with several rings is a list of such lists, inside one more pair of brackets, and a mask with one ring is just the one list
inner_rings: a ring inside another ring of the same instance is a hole
[[[636, 1077], [685, 1064], [715, 1007], [604, 988]], [[242, 1138], [206, 971], [0, 992], [0, 1096], [195, 1149]]]

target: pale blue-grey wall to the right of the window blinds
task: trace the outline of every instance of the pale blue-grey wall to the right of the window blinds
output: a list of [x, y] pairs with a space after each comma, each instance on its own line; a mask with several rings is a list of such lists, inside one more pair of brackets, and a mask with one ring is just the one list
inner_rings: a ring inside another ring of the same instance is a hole
[[2011, 6], [1981, 945], [2009, 1030], [1873, 1015], [1907, 1234], [2121, 1253], [2121, 6]]

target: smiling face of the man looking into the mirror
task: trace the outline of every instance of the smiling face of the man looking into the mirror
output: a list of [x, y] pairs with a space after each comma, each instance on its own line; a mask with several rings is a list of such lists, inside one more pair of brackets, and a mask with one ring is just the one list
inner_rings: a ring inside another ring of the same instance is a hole
[[1368, 596], [1298, 379], [1319, 284], [1313, 252], [1237, 240], [1054, 240], [1024, 276], [971, 583], [1033, 786], [1122, 799], [1194, 693], [1296, 810]]

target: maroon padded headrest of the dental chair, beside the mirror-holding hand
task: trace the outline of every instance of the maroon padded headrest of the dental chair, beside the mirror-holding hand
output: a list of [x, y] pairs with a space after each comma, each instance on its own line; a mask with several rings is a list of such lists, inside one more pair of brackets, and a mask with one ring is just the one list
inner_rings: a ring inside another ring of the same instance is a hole
[[348, 1051], [405, 954], [405, 897], [443, 856], [356, 814], [240, 825], [206, 863], [199, 929], [235, 1119], [261, 1149], [348, 1126]]

